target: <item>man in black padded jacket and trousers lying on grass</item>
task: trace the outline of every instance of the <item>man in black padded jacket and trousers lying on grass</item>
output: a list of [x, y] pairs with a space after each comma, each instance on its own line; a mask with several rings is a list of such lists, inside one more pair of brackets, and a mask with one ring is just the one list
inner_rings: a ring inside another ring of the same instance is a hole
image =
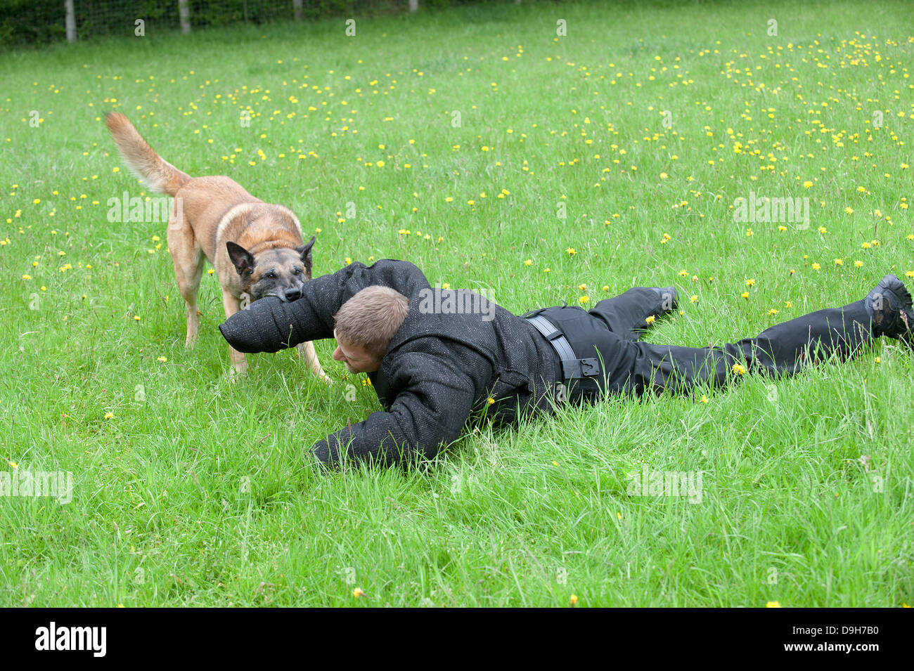
[[835, 355], [844, 361], [879, 336], [910, 344], [914, 310], [894, 275], [844, 308], [776, 324], [756, 338], [693, 348], [640, 342], [640, 330], [676, 307], [675, 288], [630, 288], [578, 307], [522, 317], [472, 291], [431, 288], [407, 261], [353, 263], [305, 282], [292, 303], [265, 298], [219, 326], [243, 352], [335, 338], [334, 359], [367, 372], [383, 412], [314, 444], [325, 465], [403, 463], [435, 456], [471, 414], [496, 426], [549, 414], [601, 393], [685, 392], [745, 372], [789, 375]]

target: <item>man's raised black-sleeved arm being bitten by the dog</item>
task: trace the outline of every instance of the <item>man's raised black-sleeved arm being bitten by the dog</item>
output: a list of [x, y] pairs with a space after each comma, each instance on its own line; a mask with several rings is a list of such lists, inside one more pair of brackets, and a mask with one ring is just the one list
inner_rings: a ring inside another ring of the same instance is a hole
[[238, 351], [280, 351], [301, 342], [333, 338], [334, 315], [363, 288], [394, 288], [408, 299], [429, 286], [408, 261], [381, 260], [370, 267], [353, 263], [331, 275], [304, 283], [302, 298], [284, 303], [275, 297], [255, 300], [219, 324], [222, 336]]

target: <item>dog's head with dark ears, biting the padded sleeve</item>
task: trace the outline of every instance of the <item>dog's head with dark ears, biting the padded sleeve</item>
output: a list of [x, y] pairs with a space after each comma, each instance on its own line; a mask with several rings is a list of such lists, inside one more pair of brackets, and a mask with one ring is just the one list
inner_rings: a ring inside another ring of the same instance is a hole
[[311, 279], [312, 236], [304, 245], [265, 249], [252, 255], [243, 246], [227, 242], [228, 257], [241, 278], [241, 290], [250, 299], [275, 296], [282, 301], [301, 298], [304, 283]]

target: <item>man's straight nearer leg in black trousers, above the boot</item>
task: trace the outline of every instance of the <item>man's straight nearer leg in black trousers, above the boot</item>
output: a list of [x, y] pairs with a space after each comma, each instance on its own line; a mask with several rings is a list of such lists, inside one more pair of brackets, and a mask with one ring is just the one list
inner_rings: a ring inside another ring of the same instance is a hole
[[607, 391], [687, 391], [698, 383], [720, 386], [737, 377], [734, 365], [772, 377], [799, 372], [834, 356], [845, 361], [874, 339], [865, 301], [820, 309], [719, 347], [696, 348], [647, 342], [600, 342], [609, 374]]

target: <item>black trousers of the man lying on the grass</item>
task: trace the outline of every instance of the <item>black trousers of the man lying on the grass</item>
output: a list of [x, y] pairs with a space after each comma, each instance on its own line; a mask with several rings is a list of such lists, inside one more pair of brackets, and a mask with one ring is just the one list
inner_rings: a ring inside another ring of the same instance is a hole
[[[845, 361], [874, 339], [864, 301], [857, 300], [844, 308], [820, 309], [783, 321], [755, 338], [723, 345], [681, 347], [639, 341], [648, 326], [647, 318], [659, 319], [669, 303], [653, 288], [635, 287], [600, 300], [589, 311], [568, 306], [547, 308], [541, 314], [565, 333], [576, 356], [600, 358], [602, 376], [596, 380], [600, 393], [687, 392], [701, 383], [722, 386], [739, 377], [735, 365], [747, 373], [792, 375], [812, 362], [832, 357]], [[557, 371], [557, 379], [560, 377]], [[593, 384], [586, 381], [582, 386], [586, 388], [588, 383]]]

